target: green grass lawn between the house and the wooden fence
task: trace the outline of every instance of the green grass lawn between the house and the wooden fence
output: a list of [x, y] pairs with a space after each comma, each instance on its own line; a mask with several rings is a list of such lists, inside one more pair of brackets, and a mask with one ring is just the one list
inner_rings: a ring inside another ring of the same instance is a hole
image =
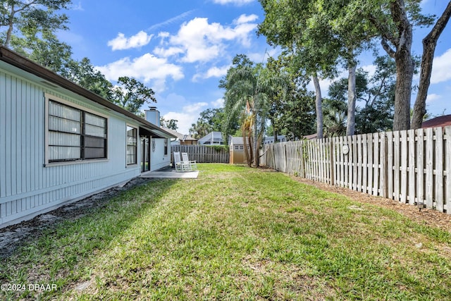
[[450, 300], [450, 233], [282, 173], [199, 170], [30, 238], [0, 283], [57, 290], [0, 299]]

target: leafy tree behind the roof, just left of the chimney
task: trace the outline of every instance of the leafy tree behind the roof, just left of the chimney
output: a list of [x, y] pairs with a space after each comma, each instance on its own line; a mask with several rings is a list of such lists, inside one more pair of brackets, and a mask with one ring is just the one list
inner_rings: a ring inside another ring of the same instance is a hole
[[145, 102], [156, 102], [152, 88], [127, 76], [118, 79], [118, 87], [113, 89], [113, 94], [114, 103], [136, 115], [140, 114], [141, 106]]

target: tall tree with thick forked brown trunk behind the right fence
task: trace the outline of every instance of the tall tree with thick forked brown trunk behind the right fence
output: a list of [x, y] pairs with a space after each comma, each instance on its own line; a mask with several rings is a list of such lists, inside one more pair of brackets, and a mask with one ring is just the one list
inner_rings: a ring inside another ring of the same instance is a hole
[[[414, 26], [428, 26], [433, 18], [421, 14], [421, 0], [350, 0], [343, 20], [369, 25], [376, 29], [381, 45], [395, 59], [397, 77], [393, 130], [410, 128], [410, 102], [414, 60], [412, 39]], [[373, 30], [372, 29], [372, 30]]]

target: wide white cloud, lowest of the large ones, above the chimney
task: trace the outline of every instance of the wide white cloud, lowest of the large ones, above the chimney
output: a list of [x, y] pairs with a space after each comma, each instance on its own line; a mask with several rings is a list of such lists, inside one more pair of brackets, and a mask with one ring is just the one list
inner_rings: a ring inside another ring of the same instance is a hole
[[152, 82], [152, 89], [161, 92], [166, 89], [166, 78], [180, 80], [184, 77], [180, 66], [168, 63], [166, 59], [157, 58], [152, 54], [144, 54], [135, 59], [125, 57], [105, 66], [98, 66], [108, 80], [118, 80], [121, 76], [130, 76], [144, 81]]

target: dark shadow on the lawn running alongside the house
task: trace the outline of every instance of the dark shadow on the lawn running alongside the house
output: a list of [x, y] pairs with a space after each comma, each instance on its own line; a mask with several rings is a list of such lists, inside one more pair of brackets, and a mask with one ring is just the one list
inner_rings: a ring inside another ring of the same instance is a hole
[[[139, 220], [142, 212], [152, 210], [178, 181], [134, 178], [123, 188], [111, 188], [1, 229], [0, 283], [11, 284], [11, 290], [2, 286], [0, 299], [50, 297], [61, 293], [69, 282], [89, 278], [90, 271], [78, 270], [83, 266], [80, 263], [109, 250], [111, 242]], [[56, 285], [56, 291], [28, 289], [37, 283]], [[24, 289], [17, 289], [18, 285]]]

